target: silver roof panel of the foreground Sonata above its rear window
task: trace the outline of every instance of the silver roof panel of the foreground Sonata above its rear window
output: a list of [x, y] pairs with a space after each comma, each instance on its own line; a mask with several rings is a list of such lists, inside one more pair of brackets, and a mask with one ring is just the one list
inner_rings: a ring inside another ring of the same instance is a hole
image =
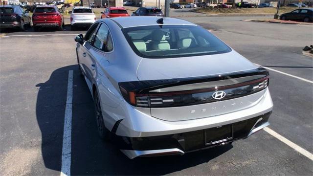
[[121, 28], [159, 25], [156, 21], [163, 18], [163, 25], [196, 25], [185, 20], [170, 17], [154, 17], [154, 16], [136, 16], [136, 17], [116, 17], [111, 20], [117, 23]]

